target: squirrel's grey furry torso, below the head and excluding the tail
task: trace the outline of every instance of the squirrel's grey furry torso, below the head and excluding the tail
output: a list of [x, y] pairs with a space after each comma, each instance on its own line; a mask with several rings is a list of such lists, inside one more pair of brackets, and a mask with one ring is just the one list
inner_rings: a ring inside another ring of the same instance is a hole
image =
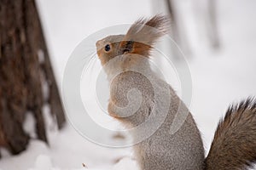
[[[148, 139], [134, 146], [139, 166], [143, 170], [202, 169], [204, 149], [201, 135], [191, 114], [189, 113], [189, 116], [177, 133], [170, 133], [174, 116], [180, 114], [177, 112], [178, 107], [180, 107], [179, 111], [188, 111], [188, 109], [177, 97], [177, 94], [174, 93], [171, 86], [155, 76], [149, 65], [140, 63], [137, 66], [139, 66], [138, 69], [146, 69], [145, 67], [148, 67], [147, 71], [150, 71], [151, 78], [153, 78], [156, 86], [163, 91], [166, 91], [166, 88], [168, 88], [170, 95], [167, 96], [171, 98], [169, 99], [171, 105], [168, 105], [168, 115], [163, 124]], [[150, 111], [153, 111], [154, 99], [162, 98], [162, 96], [154, 96], [154, 88], [147, 77], [129, 70], [131, 68], [126, 68], [125, 72], [113, 78], [110, 85], [110, 100], [117, 101], [116, 105], [119, 107], [125, 107], [130, 105], [126, 97], [127, 93], [133, 88], [137, 88], [140, 91], [143, 95], [143, 101], [139, 110], [132, 116], [119, 118], [120, 122], [131, 128], [137, 127], [146, 121], [151, 114]], [[124, 116], [124, 113], [116, 111], [113, 107], [110, 107], [109, 110], [111, 110], [110, 112], [115, 112], [116, 116]], [[155, 115], [155, 117], [158, 118], [158, 115]], [[148, 129], [145, 129], [145, 131], [147, 130], [150, 131], [150, 126], [148, 126]], [[132, 135], [133, 138], [138, 138], [137, 132]], [[139, 137], [141, 138], [141, 136]]]

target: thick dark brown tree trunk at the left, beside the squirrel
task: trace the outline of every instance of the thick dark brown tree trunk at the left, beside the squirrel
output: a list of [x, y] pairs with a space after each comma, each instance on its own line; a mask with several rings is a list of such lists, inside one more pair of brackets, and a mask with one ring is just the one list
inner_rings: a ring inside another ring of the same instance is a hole
[[65, 122], [33, 0], [0, 0], [0, 45], [0, 147], [17, 154], [30, 139], [23, 129], [28, 112], [35, 118], [38, 139], [46, 142], [43, 106], [49, 104], [58, 127]]

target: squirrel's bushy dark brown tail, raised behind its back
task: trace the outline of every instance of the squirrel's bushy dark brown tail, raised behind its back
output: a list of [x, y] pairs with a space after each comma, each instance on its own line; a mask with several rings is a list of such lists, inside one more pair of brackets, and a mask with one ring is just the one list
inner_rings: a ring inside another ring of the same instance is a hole
[[256, 100], [230, 106], [219, 122], [206, 169], [246, 169], [256, 162]]

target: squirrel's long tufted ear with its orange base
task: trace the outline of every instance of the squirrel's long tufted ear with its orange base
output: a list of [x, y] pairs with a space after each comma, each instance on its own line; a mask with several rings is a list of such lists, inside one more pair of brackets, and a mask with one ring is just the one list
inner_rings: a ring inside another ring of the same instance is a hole
[[149, 20], [144, 18], [137, 20], [127, 31], [122, 42], [120, 42], [123, 54], [149, 54], [154, 42], [165, 35], [169, 27], [169, 18], [160, 14]]

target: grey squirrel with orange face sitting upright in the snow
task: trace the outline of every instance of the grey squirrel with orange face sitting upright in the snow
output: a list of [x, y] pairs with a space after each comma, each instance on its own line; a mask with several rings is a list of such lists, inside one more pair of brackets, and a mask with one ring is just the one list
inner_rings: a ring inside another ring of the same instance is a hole
[[[253, 166], [256, 162], [255, 99], [248, 98], [230, 106], [218, 123], [211, 149], [205, 156], [201, 133], [189, 109], [172, 87], [150, 68], [150, 52], [155, 42], [167, 33], [168, 25], [169, 19], [158, 14], [148, 20], [137, 20], [125, 35], [108, 36], [96, 42], [98, 58], [110, 81], [110, 116], [125, 127], [133, 128], [152, 115], [157, 121], [158, 115], [164, 116], [161, 112], [167, 108], [160, 127], [134, 144], [138, 166], [141, 170], [230, 170]], [[139, 95], [134, 93], [135, 88]], [[160, 95], [155, 94], [155, 89], [160, 89]], [[136, 97], [132, 98], [133, 95]], [[155, 108], [157, 98], [163, 98], [170, 105]], [[137, 109], [123, 109], [137, 104]], [[188, 112], [188, 115], [177, 132], [170, 133], [177, 112]], [[154, 126], [154, 122], [151, 125]], [[145, 129], [145, 133], [150, 128]], [[137, 139], [141, 133], [131, 135]]]

